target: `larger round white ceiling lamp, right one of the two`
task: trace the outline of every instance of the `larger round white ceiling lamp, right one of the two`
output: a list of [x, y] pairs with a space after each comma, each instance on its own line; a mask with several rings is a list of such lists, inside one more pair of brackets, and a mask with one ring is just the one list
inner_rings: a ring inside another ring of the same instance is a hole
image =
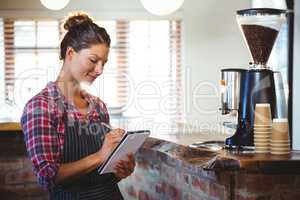
[[178, 10], [184, 0], [140, 0], [146, 10], [154, 15], [169, 15]]

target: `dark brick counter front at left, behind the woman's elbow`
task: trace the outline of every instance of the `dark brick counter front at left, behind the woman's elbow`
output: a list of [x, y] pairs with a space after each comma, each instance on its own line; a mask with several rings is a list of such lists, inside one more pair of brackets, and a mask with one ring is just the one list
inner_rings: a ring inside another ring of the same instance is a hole
[[26, 156], [23, 134], [0, 133], [0, 199], [44, 200], [47, 193], [36, 183]]

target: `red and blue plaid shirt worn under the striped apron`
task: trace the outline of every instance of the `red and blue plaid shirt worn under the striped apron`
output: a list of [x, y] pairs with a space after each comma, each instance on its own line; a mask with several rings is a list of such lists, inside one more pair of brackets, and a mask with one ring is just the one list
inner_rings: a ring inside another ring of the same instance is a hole
[[63, 108], [68, 118], [77, 120], [95, 120], [100, 115], [97, 106], [105, 113], [105, 122], [109, 115], [105, 104], [97, 97], [86, 94], [89, 113], [84, 116], [72, 104], [68, 103], [54, 82], [30, 99], [21, 117], [21, 126], [28, 156], [33, 163], [33, 170], [38, 183], [45, 188], [54, 186], [64, 146]]

